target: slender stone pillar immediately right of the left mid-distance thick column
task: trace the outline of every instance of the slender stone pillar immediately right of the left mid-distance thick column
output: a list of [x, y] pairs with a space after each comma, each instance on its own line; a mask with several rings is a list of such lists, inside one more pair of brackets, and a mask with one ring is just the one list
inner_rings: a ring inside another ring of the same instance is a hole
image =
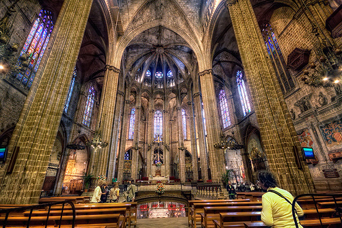
[[[129, 113], [131, 112], [129, 101], [129, 96], [131, 95], [130, 88], [126, 88], [124, 107], [123, 107], [123, 116], [122, 116], [122, 123], [120, 125], [121, 132], [120, 132], [120, 145], [119, 145], [119, 155], [118, 155], [118, 181], [122, 183], [123, 173], [124, 173], [124, 153], [126, 152], [126, 136], [127, 136], [127, 129], [129, 124]], [[121, 107], [122, 108], [122, 107]], [[132, 151], [135, 152], [135, 151]]]

